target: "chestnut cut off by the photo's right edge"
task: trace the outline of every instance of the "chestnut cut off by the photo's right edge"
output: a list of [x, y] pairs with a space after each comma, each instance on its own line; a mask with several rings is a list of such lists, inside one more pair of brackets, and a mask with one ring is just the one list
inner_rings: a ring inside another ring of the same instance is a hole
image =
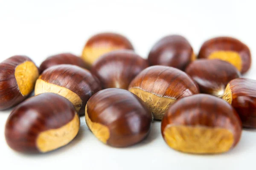
[[231, 80], [223, 99], [235, 108], [243, 127], [256, 128], [256, 80], [247, 78]]

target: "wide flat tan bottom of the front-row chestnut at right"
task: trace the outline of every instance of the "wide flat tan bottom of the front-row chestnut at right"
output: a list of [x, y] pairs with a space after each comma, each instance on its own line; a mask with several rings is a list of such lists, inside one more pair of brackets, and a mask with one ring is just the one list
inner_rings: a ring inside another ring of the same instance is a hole
[[186, 153], [223, 153], [234, 143], [233, 133], [224, 128], [169, 125], [164, 136], [170, 147]]

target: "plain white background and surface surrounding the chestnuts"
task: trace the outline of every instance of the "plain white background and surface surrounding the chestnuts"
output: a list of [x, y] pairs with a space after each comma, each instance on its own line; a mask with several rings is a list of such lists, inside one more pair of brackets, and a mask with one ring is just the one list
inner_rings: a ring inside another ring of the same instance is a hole
[[[245, 77], [256, 79], [255, 6], [254, 0], [0, 0], [0, 60], [23, 54], [40, 65], [52, 54], [80, 55], [86, 40], [101, 31], [124, 34], [143, 57], [167, 34], [184, 35], [196, 52], [204, 40], [225, 35], [250, 47], [253, 64]], [[5, 142], [10, 111], [0, 111], [1, 170], [255, 169], [256, 130], [243, 130], [240, 143], [228, 153], [198, 156], [169, 148], [160, 134], [160, 122], [154, 122], [141, 144], [108, 147], [90, 133], [84, 117], [78, 136], [66, 147], [24, 155]]]

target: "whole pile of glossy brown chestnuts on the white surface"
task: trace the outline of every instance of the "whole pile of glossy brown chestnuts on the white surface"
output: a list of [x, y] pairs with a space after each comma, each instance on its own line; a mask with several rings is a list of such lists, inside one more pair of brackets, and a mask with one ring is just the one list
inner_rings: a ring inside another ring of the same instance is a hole
[[14, 107], [6, 142], [22, 153], [49, 152], [76, 137], [84, 116], [112, 147], [141, 142], [161, 121], [169, 147], [224, 153], [242, 127], [256, 128], [256, 80], [241, 78], [250, 65], [249, 48], [235, 38], [207, 40], [197, 55], [180, 35], [160, 39], [148, 59], [115, 33], [91, 37], [81, 57], [53, 55], [39, 68], [13, 56], [0, 63], [0, 110]]

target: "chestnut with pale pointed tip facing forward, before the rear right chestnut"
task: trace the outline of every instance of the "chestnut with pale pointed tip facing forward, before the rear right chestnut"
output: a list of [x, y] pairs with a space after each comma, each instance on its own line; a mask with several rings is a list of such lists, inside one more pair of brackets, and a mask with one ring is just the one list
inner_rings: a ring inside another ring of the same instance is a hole
[[198, 59], [189, 64], [186, 73], [198, 84], [200, 92], [222, 97], [227, 83], [240, 77], [235, 66], [220, 59]]

